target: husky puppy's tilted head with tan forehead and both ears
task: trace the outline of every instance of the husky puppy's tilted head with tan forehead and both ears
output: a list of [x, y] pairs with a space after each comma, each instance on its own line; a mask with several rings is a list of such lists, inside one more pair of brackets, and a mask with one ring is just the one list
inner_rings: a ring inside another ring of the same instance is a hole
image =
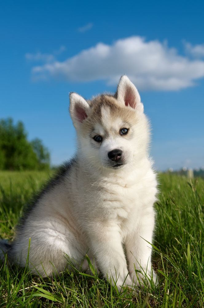
[[78, 155], [97, 169], [131, 168], [147, 153], [148, 121], [139, 93], [127, 76], [115, 95], [85, 100], [70, 93], [70, 114], [77, 130]]

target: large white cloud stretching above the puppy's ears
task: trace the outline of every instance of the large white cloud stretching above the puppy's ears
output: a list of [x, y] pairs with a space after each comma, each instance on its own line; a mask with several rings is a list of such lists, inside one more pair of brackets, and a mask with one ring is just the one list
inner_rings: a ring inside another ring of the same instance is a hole
[[157, 40], [133, 36], [112, 45], [98, 43], [66, 59], [33, 67], [35, 79], [60, 77], [68, 81], [118, 82], [126, 74], [140, 90], [179, 90], [204, 77], [204, 61], [179, 55]]

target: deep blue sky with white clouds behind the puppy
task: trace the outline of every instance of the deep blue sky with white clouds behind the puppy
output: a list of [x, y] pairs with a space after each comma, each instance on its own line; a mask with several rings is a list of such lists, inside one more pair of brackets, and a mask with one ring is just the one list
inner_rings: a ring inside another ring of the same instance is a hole
[[165, 170], [204, 167], [201, 1], [2, 1], [0, 118], [22, 120], [53, 164], [75, 151], [69, 92], [114, 92], [127, 74]]

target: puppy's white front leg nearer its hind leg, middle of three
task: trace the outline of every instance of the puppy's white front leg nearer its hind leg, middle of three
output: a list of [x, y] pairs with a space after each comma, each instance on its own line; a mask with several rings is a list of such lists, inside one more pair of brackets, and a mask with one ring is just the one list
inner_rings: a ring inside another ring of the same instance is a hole
[[[97, 228], [97, 229], [96, 229]], [[91, 250], [96, 258], [99, 270], [112, 284], [121, 289], [121, 286], [132, 285], [128, 275], [128, 267], [122, 246], [122, 239], [118, 225], [95, 225], [90, 236]], [[114, 283], [115, 282], [115, 283]]]

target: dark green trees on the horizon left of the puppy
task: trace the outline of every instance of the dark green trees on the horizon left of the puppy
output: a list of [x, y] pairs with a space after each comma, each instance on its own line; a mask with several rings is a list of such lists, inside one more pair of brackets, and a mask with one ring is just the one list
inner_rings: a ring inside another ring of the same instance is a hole
[[0, 170], [45, 170], [50, 167], [49, 150], [42, 141], [27, 139], [21, 121], [0, 120]]

